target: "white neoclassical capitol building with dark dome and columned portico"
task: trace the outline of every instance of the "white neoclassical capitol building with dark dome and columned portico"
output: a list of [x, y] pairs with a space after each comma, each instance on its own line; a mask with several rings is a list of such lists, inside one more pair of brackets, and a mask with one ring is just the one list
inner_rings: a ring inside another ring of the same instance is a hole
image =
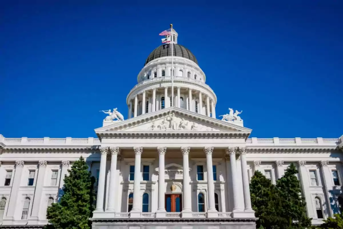
[[215, 92], [177, 39], [174, 30], [148, 55], [128, 110], [103, 111], [97, 138], [0, 135], [0, 228], [43, 228], [81, 156], [96, 177], [93, 229], [253, 229], [252, 175], [275, 184], [291, 163], [313, 225], [340, 211], [343, 136], [249, 138], [239, 107], [216, 114]]

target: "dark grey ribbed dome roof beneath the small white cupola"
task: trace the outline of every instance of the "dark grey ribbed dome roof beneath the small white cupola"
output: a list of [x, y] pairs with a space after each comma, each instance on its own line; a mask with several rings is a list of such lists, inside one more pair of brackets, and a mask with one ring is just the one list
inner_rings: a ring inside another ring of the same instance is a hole
[[[157, 59], [160, 57], [166, 57], [166, 56], [171, 56], [171, 46], [170, 45], [158, 46], [150, 53], [148, 58], [146, 58], [144, 66], [154, 59]], [[195, 56], [191, 53], [191, 51], [188, 48], [185, 48], [184, 46], [179, 45], [179, 44], [173, 44], [173, 56], [184, 57], [198, 64], [197, 58], [195, 58]]]

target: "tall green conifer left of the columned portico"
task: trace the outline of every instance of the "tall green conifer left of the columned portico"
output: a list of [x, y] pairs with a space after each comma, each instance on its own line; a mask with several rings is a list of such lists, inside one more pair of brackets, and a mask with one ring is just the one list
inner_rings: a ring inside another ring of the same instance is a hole
[[90, 229], [94, 210], [95, 179], [88, 171], [85, 160], [75, 161], [69, 175], [64, 178], [63, 196], [60, 203], [47, 209], [49, 225], [46, 229]]

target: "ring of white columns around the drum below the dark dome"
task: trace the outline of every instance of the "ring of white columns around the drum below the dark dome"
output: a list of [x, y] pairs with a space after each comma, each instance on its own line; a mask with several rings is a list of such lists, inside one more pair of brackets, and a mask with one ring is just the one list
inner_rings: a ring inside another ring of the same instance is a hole
[[[164, 108], [168, 108], [171, 106], [170, 104], [170, 96], [168, 96], [168, 90], [171, 87], [164, 87]], [[180, 96], [180, 90], [181, 87], [176, 87], [177, 88], [177, 92], [176, 92], [176, 96], [175, 96], [175, 106], [176, 107], [180, 107], [181, 108], [181, 96]], [[152, 93], [151, 93], [152, 91]], [[196, 92], [196, 95], [194, 95], [193, 98], [193, 92]], [[144, 90], [142, 93], [142, 100], [140, 101], [138, 99], [138, 96], [140, 94], [136, 94], [134, 96], [134, 99], [130, 100], [129, 105], [128, 105], [128, 117], [132, 118], [132, 112], [133, 112], [133, 117], [137, 117], [140, 114], [145, 114], [146, 113], [146, 101], [148, 101], [149, 103], [149, 112], [154, 112], [154, 111], [158, 111], [162, 109], [161, 104], [156, 104], [156, 102], [160, 102], [158, 99], [156, 100], [156, 88], [149, 90], [149, 96], [147, 98], [146, 94], [147, 94], [147, 90]], [[146, 100], [147, 98], [147, 100]], [[216, 114], [215, 114], [215, 103], [214, 100], [211, 99], [208, 95], [205, 95], [205, 103], [203, 103], [203, 95], [201, 91], [196, 91], [196, 90], [192, 90], [191, 88], [188, 88], [188, 97], [185, 98], [186, 99], [186, 108], [188, 111], [192, 111], [192, 112], [196, 112], [202, 115], [207, 115], [207, 116], [211, 116], [213, 118], [216, 118]], [[195, 102], [196, 100], [198, 100], [198, 104]], [[142, 107], [141, 107], [141, 112], [139, 113], [139, 103], [141, 102]], [[203, 105], [204, 105], [204, 109], [203, 109]], [[196, 106], [198, 106], [196, 108]]]

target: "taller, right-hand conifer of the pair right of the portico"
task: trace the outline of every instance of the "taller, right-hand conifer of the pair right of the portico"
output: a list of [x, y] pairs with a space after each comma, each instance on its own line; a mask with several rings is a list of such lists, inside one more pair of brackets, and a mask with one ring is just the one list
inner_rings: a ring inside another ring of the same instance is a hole
[[279, 200], [281, 200], [278, 208], [280, 228], [308, 228], [311, 226], [311, 218], [306, 215], [306, 202], [305, 198], [301, 196], [297, 173], [298, 170], [292, 163], [282, 178], [276, 182]]

